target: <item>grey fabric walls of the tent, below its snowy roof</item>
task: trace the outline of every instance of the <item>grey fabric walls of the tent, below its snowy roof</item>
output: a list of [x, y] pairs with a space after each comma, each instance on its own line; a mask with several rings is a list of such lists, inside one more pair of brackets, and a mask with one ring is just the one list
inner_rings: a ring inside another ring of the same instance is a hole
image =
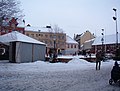
[[[45, 60], [45, 51], [46, 46], [40, 44], [32, 44], [25, 42], [16, 42], [16, 47], [13, 47], [13, 42], [10, 46], [10, 62], [34, 62], [37, 60]], [[15, 53], [12, 52], [13, 48], [15, 48]], [[13, 53], [13, 54], [12, 54]], [[13, 56], [15, 60], [13, 60]]]

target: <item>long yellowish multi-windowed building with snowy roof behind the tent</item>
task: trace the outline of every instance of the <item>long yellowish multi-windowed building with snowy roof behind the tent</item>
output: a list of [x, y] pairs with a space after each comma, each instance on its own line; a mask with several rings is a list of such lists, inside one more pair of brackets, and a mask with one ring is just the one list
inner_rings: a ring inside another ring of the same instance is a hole
[[33, 28], [26, 27], [25, 35], [32, 37], [38, 41], [47, 44], [46, 53], [53, 52], [54, 50], [59, 54], [64, 54], [66, 48], [66, 34], [50, 32], [49, 28]]

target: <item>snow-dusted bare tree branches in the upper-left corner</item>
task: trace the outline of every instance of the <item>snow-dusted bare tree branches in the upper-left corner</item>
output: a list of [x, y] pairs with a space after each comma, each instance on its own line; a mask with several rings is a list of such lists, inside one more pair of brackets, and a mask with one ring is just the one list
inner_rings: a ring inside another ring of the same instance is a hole
[[20, 2], [17, 0], [0, 0], [0, 21], [4, 18], [21, 18], [23, 15], [19, 5]]

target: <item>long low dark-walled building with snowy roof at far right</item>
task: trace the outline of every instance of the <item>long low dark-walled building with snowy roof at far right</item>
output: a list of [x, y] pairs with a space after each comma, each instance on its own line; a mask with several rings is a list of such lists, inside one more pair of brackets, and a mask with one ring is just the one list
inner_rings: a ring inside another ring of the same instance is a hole
[[[120, 36], [120, 34], [118, 35]], [[116, 35], [105, 35], [104, 36], [104, 41], [102, 44], [102, 36], [96, 37], [93, 44], [92, 44], [92, 49], [91, 51], [93, 53], [96, 53], [97, 50], [102, 50], [104, 49], [105, 53], [115, 53], [117, 47], [116, 47]], [[118, 39], [118, 48], [120, 48], [120, 40]]]

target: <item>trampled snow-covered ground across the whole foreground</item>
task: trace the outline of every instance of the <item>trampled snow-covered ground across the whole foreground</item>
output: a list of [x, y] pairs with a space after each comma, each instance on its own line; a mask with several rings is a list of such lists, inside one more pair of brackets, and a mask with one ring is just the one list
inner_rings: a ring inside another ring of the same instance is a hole
[[74, 56], [69, 63], [7, 63], [0, 61], [0, 91], [120, 91], [109, 85], [113, 60], [101, 70]]

